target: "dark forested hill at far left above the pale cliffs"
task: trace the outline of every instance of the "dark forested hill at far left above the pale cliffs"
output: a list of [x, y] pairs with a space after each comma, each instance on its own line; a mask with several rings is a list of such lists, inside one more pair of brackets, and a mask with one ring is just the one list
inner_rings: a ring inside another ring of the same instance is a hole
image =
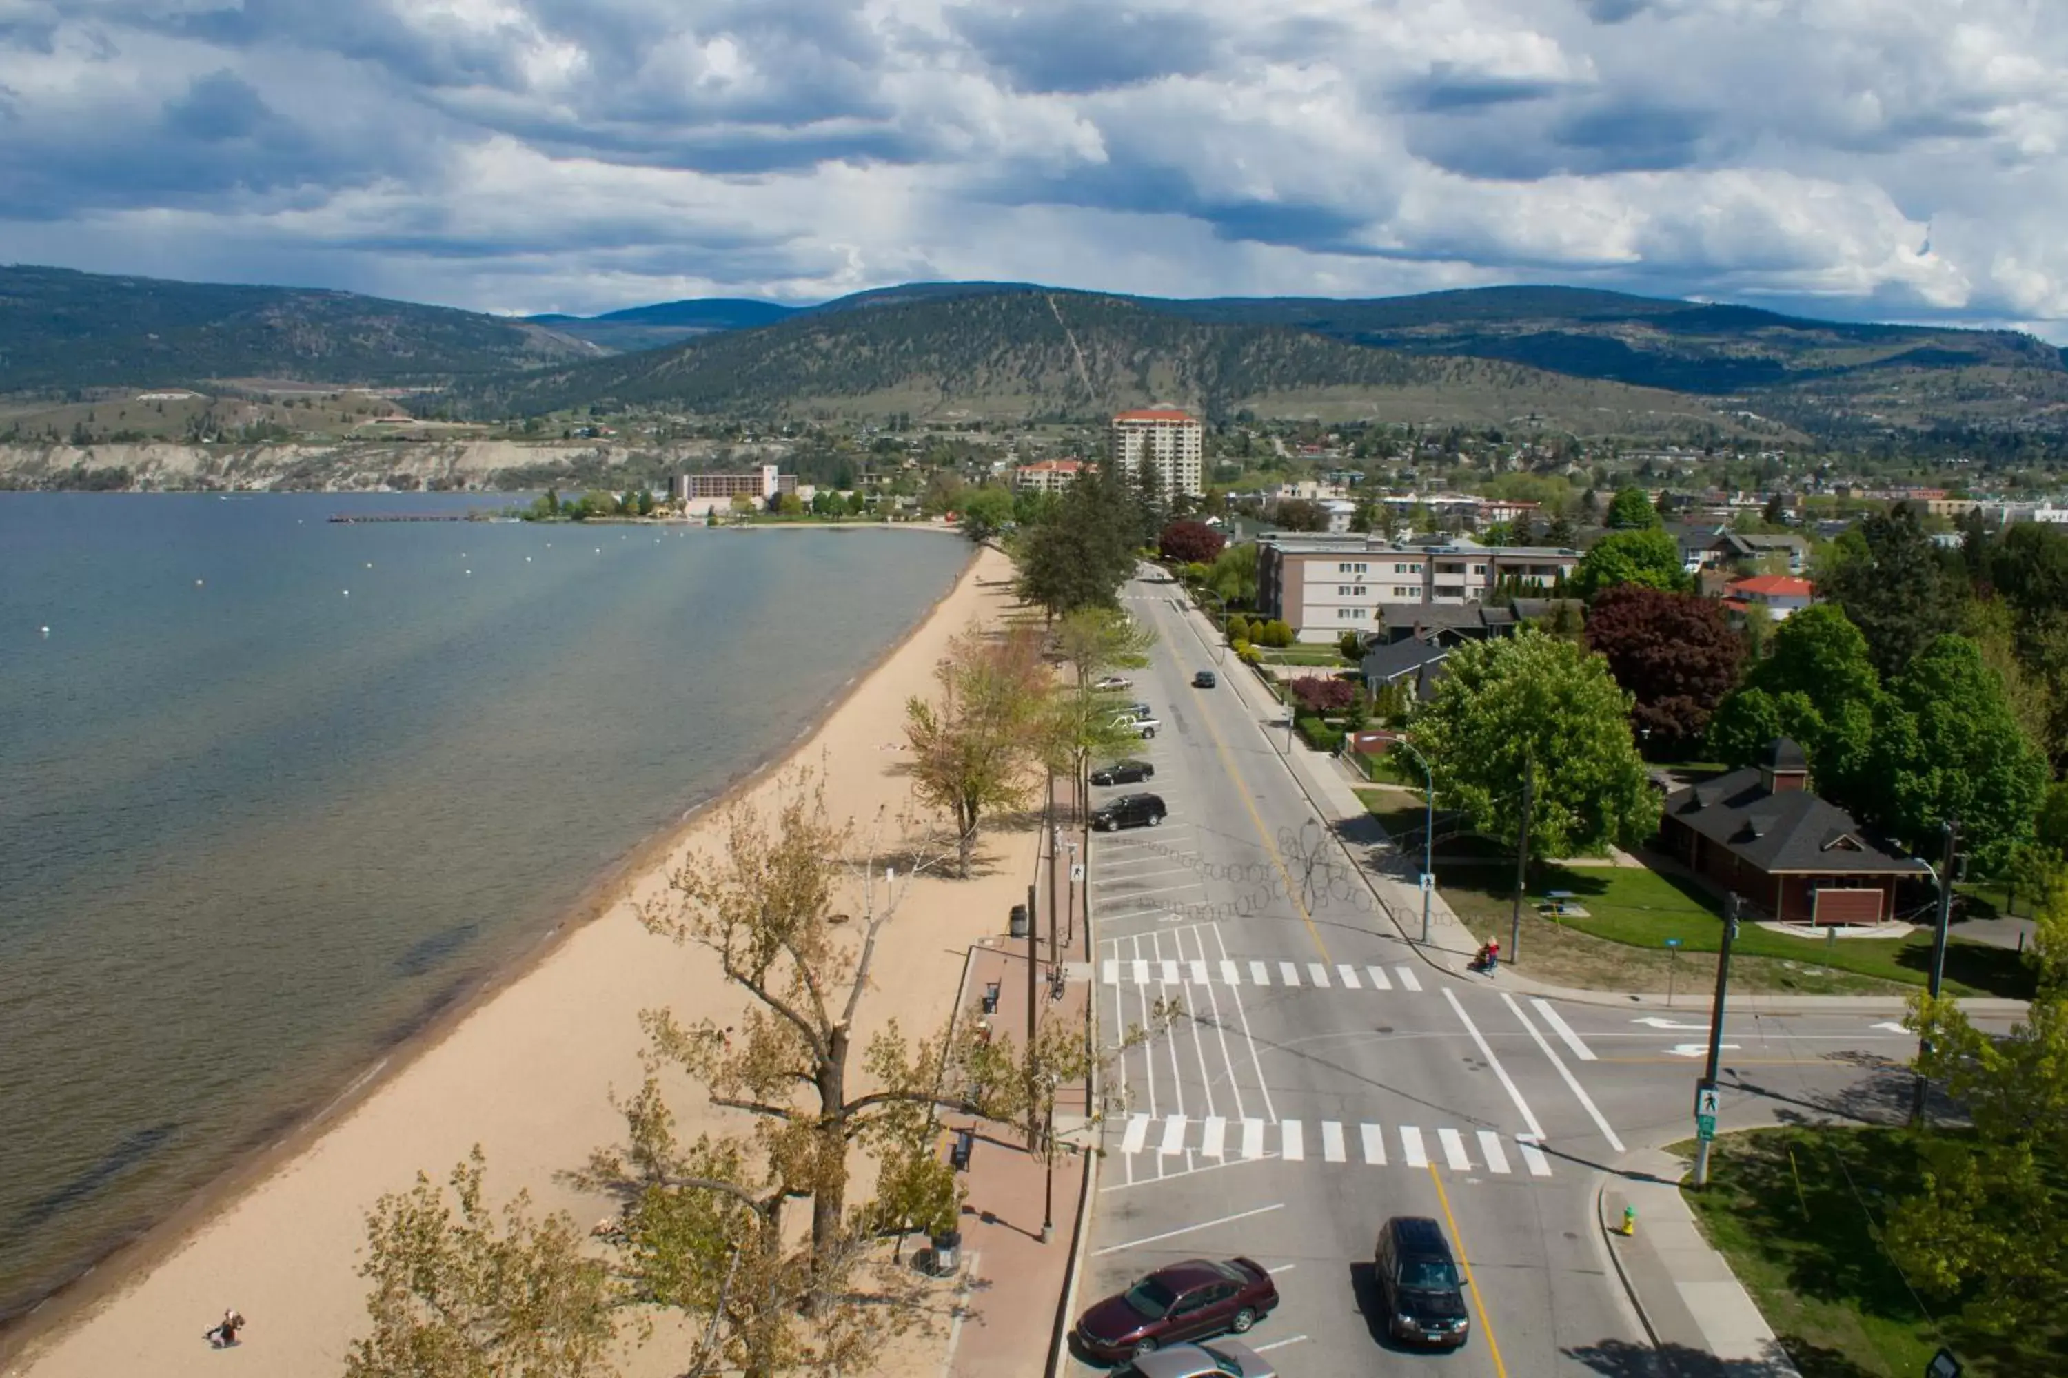
[[438, 382], [596, 353], [540, 324], [349, 291], [0, 267], [0, 393]]

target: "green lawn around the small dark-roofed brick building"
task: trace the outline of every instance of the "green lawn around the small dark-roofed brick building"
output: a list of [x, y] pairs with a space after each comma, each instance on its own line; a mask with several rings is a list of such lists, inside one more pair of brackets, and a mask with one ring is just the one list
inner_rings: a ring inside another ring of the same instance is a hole
[[[1454, 851], [1439, 847], [1439, 851]], [[1501, 862], [1437, 862], [1437, 884], [1479, 936], [1508, 938], [1514, 870]], [[1547, 919], [1534, 911], [1547, 890], [1572, 890], [1586, 917]], [[1628, 866], [1539, 866], [1524, 905], [1522, 971], [1555, 981], [1617, 983], [1611, 990], [1679, 990], [1714, 981], [1723, 938], [1721, 901], [1694, 880]], [[1667, 948], [1679, 938], [1679, 952]], [[1925, 983], [1929, 934], [1911, 938], [1803, 940], [1756, 923], [1737, 930], [1731, 985], [1776, 994], [1903, 992]], [[2025, 961], [1983, 942], [1946, 944], [1946, 992], [2029, 998]]]

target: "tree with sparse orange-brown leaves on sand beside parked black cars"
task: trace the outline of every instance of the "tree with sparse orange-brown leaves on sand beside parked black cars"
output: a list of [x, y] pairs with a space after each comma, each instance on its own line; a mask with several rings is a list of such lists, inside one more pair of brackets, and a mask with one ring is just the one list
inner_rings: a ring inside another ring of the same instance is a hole
[[941, 700], [906, 702], [912, 787], [953, 818], [957, 874], [968, 878], [976, 828], [1032, 793], [1034, 727], [1048, 688], [1032, 630], [986, 640], [976, 628], [949, 643], [935, 678]]

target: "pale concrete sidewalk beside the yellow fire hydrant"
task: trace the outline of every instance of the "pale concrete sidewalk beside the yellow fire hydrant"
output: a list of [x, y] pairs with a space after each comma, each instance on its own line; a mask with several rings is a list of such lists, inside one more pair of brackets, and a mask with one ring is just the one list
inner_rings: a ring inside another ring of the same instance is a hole
[[[1681, 1198], [1687, 1163], [1630, 1153], [1596, 1200], [1615, 1271], [1669, 1378], [1799, 1378], [1760, 1308], [1712, 1250]], [[1636, 1231], [1623, 1235], [1623, 1207]]]

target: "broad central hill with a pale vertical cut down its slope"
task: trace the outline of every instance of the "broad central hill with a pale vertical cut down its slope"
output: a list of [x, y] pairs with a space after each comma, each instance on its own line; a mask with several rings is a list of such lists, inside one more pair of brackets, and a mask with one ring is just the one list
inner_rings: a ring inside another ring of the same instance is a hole
[[1737, 426], [1708, 403], [1491, 359], [1367, 349], [1307, 331], [1208, 324], [1119, 297], [1026, 287], [817, 310], [759, 331], [480, 380], [486, 413], [666, 405], [699, 413], [1096, 417], [1173, 401], [1228, 417], [1383, 417], [1580, 434]]

